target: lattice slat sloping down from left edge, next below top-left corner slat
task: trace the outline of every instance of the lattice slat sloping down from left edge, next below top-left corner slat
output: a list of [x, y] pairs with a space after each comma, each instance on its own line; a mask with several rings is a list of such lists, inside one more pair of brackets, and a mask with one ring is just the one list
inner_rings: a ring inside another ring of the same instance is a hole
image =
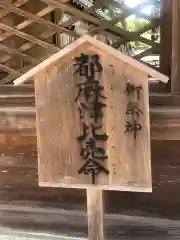
[[5, 31], [7, 31], [7, 32], [11, 32], [14, 35], [17, 35], [18, 37], [26, 39], [27, 41], [30, 41], [30, 42], [32, 42], [34, 44], [37, 44], [37, 45], [41, 46], [41, 47], [48, 48], [50, 51], [52, 51], [54, 53], [59, 50], [59, 48], [55, 47], [52, 44], [46, 43], [46, 42], [44, 42], [44, 41], [42, 41], [42, 40], [40, 40], [40, 39], [38, 39], [36, 37], [33, 37], [33, 36], [31, 36], [31, 35], [29, 35], [29, 34], [27, 34], [25, 32], [21, 32], [21, 31], [17, 30], [16, 28], [12, 28], [12, 27], [7, 26], [7, 25], [5, 25], [3, 23], [0, 23], [0, 29], [3, 29]]

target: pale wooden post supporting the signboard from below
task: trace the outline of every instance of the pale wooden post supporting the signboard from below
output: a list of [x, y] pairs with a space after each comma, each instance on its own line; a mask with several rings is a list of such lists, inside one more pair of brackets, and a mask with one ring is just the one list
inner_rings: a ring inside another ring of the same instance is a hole
[[88, 239], [104, 240], [103, 191], [87, 189]]

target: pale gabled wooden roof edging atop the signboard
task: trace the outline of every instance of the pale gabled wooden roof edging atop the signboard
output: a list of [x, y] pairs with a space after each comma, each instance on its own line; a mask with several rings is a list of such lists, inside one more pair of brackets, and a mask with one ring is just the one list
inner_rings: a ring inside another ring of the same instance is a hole
[[14, 81], [15, 85], [20, 85], [28, 81], [30, 78], [32, 78], [34, 75], [36, 75], [39, 71], [42, 71], [43, 69], [49, 67], [50, 65], [56, 63], [56, 61], [60, 59], [64, 59], [65, 57], [68, 59], [72, 58], [74, 55], [76, 55], [79, 52], [85, 52], [86, 46], [92, 45], [97, 50], [105, 52], [108, 55], [111, 55], [115, 57], [117, 60], [124, 61], [127, 64], [130, 64], [131, 66], [139, 69], [142, 72], [146, 72], [147, 74], [151, 75], [152, 77], [158, 78], [160, 81], [167, 83], [168, 77], [164, 74], [154, 70], [153, 68], [146, 66], [145, 64], [115, 50], [114, 48], [108, 46], [107, 44], [104, 44], [95, 38], [85, 35], [78, 40], [72, 42], [70, 45], [65, 47], [63, 50], [59, 51], [58, 53], [55, 53], [36, 67], [32, 68], [30, 71], [22, 75], [21, 77], [17, 78]]

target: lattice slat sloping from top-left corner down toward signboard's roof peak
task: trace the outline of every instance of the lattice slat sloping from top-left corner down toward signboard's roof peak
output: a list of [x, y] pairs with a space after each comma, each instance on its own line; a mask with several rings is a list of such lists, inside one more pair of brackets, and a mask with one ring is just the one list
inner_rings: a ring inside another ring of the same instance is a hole
[[79, 35], [76, 34], [73, 31], [70, 31], [70, 30], [68, 30], [68, 29], [66, 29], [64, 27], [58, 26], [58, 25], [56, 25], [56, 24], [54, 24], [54, 23], [52, 23], [50, 21], [47, 21], [47, 20], [45, 20], [43, 18], [40, 18], [39, 16], [37, 16], [35, 14], [32, 14], [32, 13], [29, 13], [29, 12], [23, 10], [23, 9], [14, 7], [12, 4], [9, 4], [9, 3], [5, 2], [5, 1], [1, 1], [0, 0], [0, 7], [5, 8], [6, 10], [10, 10], [10, 11], [12, 11], [14, 13], [17, 13], [17, 14], [23, 16], [23, 17], [29, 18], [30, 20], [38, 22], [38, 23], [40, 23], [42, 25], [45, 25], [45, 26], [47, 26], [47, 27], [49, 27], [49, 28], [59, 32], [59, 33], [64, 32], [64, 33], [69, 34], [72, 37], [75, 37], [75, 38], [79, 37]]

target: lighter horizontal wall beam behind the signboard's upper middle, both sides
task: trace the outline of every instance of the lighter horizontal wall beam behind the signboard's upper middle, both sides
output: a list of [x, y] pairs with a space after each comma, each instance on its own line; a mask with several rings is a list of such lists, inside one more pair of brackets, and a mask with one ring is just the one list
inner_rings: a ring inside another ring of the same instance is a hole
[[[14, 103], [12, 103], [13, 105]], [[155, 107], [150, 109], [151, 140], [180, 140], [180, 109], [176, 107]], [[16, 132], [34, 136], [36, 144], [35, 108], [7, 106], [0, 108], [0, 130], [3, 133]]]

